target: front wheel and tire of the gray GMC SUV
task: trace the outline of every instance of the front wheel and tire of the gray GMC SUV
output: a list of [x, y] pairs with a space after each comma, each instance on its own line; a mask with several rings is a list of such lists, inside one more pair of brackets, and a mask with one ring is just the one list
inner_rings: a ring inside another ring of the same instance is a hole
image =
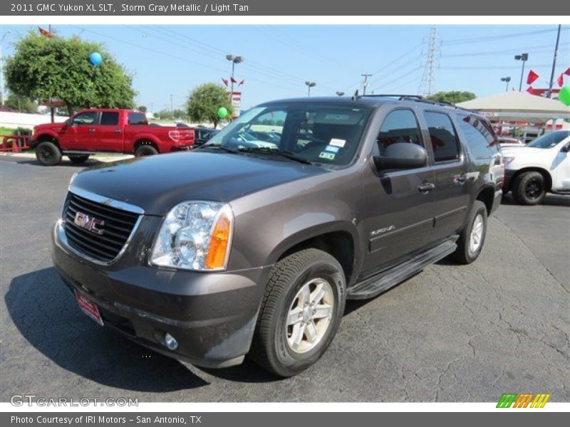
[[249, 356], [278, 376], [314, 364], [341, 324], [346, 280], [338, 261], [310, 248], [280, 260], [271, 272]]

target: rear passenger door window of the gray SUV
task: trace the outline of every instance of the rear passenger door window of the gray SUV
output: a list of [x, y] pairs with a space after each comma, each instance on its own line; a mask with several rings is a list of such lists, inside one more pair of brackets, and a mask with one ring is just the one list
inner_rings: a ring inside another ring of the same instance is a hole
[[430, 131], [435, 162], [458, 159], [459, 142], [450, 117], [441, 112], [426, 111], [425, 121]]

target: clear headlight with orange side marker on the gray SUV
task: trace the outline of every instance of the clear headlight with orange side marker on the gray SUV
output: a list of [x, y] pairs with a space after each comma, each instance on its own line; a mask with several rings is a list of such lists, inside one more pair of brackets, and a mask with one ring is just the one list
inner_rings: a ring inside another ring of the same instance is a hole
[[185, 201], [162, 222], [151, 263], [184, 270], [224, 270], [232, 241], [234, 214], [227, 204]]

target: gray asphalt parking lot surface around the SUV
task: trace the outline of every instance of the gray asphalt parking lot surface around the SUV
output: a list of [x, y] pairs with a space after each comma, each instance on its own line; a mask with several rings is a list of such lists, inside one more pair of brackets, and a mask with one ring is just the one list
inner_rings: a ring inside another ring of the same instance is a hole
[[[90, 161], [92, 162], [92, 161]], [[365, 302], [348, 302], [316, 366], [277, 380], [254, 364], [204, 370], [99, 327], [51, 267], [51, 227], [69, 162], [0, 157], [0, 401], [570, 401], [570, 198], [504, 200], [479, 260], [443, 260]]]

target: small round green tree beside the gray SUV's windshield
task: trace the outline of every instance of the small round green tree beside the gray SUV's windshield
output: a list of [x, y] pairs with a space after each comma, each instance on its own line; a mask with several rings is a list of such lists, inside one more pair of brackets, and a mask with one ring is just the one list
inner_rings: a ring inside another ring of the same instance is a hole
[[226, 107], [228, 117], [232, 117], [232, 103], [229, 94], [222, 85], [204, 83], [192, 90], [188, 97], [188, 115], [193, 122], [209, 122], [214, 127], [220, 121], [218, 110]]

